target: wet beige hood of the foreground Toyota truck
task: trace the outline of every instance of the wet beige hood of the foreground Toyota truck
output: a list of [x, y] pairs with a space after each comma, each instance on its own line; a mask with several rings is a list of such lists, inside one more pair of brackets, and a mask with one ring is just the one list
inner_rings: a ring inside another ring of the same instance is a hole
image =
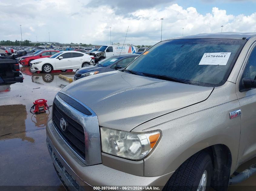
[[61, 92], [90, 107], [100, 126], [131, 131], [148, 120], [206, 100], [212, 90], [113, 71], [75, 81]]

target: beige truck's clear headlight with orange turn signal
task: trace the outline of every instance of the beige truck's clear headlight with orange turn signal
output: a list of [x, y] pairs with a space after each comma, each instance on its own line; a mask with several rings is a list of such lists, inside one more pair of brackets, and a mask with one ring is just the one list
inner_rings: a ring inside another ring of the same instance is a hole
[[126, 132], [101, 127], [102, 151], [131, 160], [141, 160], [158, 144], [161, 131]]

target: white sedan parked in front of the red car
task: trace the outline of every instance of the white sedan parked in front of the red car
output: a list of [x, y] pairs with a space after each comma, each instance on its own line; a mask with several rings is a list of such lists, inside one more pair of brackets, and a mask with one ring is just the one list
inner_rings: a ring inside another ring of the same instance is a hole
[[63, 51], [49, 58], [40, 58], [30, 62], [32, 71], [50, 73], [52, 70], [79, 69], [94, 64], [94, 57], [77, 51]]

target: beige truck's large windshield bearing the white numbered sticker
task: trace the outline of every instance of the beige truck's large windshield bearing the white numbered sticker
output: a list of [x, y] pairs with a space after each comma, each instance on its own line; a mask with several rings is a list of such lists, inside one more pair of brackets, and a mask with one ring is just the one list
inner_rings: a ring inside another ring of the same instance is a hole
[[126, 69], [151, 74], [148, 77], [162, 75], [194, 85], [216, 87], [227, 80], [245, 43], [246, 40], [236, 39], [162, 41], [146, 50]]

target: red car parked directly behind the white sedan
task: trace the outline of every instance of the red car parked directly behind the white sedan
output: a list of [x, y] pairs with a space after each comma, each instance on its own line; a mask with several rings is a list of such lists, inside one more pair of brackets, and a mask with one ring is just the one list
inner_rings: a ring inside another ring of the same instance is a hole
[[39, 58], [47, 58], [47, 57], [50, 57], [58, 52], [60, 52], [60, 51], [58, 51], [58, 50], [42, 50], [41, 52], [39, 52], [35, 55], [22, 56], [19, 59], [19, 63], [21, 65], [30, 66], [30, 62], [32, 60], [39, 59]]

